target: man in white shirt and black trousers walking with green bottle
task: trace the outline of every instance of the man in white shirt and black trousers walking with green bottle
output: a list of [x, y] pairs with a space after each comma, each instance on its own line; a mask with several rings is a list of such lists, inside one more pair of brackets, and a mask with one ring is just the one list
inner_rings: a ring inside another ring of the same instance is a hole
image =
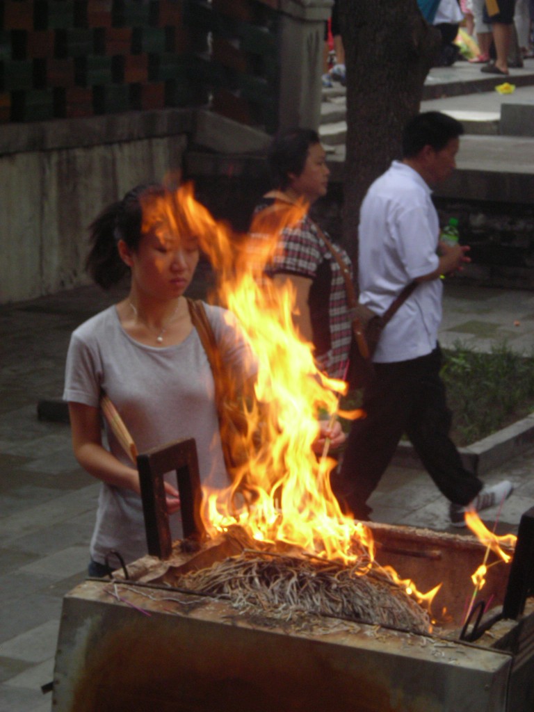
[[508, 481], [493, 487], [464, 468], [449, 438], [451, 413], [439, 371], [442, 275], [461, 269], [468, 247], [439, 241], [431, 186], [455, 167], [460, 122], [426, 112], [404, 129], [401, 162], [370, 187], [360, 212], [360, 302], [382, 314], [404, 286], [417, 288], [387, 323], [373, 357], [375, 375], [364, 392], [367, 417], [347, 439], [335, 494], [346, 511], [369, 519], [367, 499], [377, 487], [404, 433], [441, 493], [451, 523], [464, 526], [466, 509], [491, 507], [508, 497]]

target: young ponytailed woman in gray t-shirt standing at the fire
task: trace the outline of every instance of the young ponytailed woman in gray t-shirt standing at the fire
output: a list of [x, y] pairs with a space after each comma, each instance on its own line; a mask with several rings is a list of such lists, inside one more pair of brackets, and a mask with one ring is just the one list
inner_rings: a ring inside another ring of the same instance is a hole
[[[137, 450], [179, 438], [197, 442], [201, 483], [229, 484], [221, 449], [214, 379], [184, 292], [199, 261], [199, 240], [177, 203], [159, 185], [137, 187], [108, 206], [90, 227], [88, 271], [109, 288], [130, 272], [125, 299], [73, 333], [63, 394], [68, 401], [75, 456], [102, 482], [90, 545], [90, 575], [108, 572], [116, 550], [126, 563], [147, 553], [137, 469], [107, 429], [101, 431], [100, 395], [119, 412]], [[170, 209], [168, 206], [173, 206]], [[163, 215], [163, 219], [162, 219]], [[179, 227], [177, 227], [179, 226]], [[236, 320], [205, 305], [224, 364], [241, 379], [255, 362]], [[181, 535], [179, 497], [165, 483], [174, 538]]]

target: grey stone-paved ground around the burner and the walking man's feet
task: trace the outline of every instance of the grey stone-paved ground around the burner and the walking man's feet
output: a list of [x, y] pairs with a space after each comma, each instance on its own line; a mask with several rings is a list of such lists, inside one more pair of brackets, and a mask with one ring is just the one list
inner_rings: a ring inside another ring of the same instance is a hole
[[[83, 287], [0, 307], [0, 712], [51, 710], [41, 685], [53, 676], [62, 597], [85, 577], [98, 484], [76, 464], [68, 426], [39, 420], [36, 407], [61, 396], [72, 330], [116, 298]], [[506, 340], [534, 350], [532, 292], [451, 280], [444, 311], [444, 345], [461, 339], [488, 350]], [[499, 533], [515, 532], [534, 506], [533, 467], [530, 452], [483, 476], [515, 484]], [[371, 503], [375, 520], [449, 527], [446, 501], [417, 468], [390, 467]]]

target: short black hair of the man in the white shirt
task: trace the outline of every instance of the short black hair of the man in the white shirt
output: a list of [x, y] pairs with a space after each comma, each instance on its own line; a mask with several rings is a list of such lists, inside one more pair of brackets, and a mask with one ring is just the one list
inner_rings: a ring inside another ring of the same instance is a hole
[[441, 151], [451, 139], [464, 133], [459, 121], [439, 111], [427, 111], [409, 120], [402, 134], [402, 157], [413, 158], [425, 146]]

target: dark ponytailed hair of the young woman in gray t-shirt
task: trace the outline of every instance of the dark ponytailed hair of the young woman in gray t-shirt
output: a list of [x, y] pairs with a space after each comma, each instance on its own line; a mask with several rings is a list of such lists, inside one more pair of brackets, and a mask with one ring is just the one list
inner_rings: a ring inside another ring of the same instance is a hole
[[90, 224], [91, 249], [85, 268], [101, 287], [109, 289], [128, 273], [130, 268], [120, 258], [117, 243], [124, 240], [135, 252], [142, 237], [143, 205], [166, 194], [167, 190], [157, 183], [138, 185], [122, 200], [103, 209]]

